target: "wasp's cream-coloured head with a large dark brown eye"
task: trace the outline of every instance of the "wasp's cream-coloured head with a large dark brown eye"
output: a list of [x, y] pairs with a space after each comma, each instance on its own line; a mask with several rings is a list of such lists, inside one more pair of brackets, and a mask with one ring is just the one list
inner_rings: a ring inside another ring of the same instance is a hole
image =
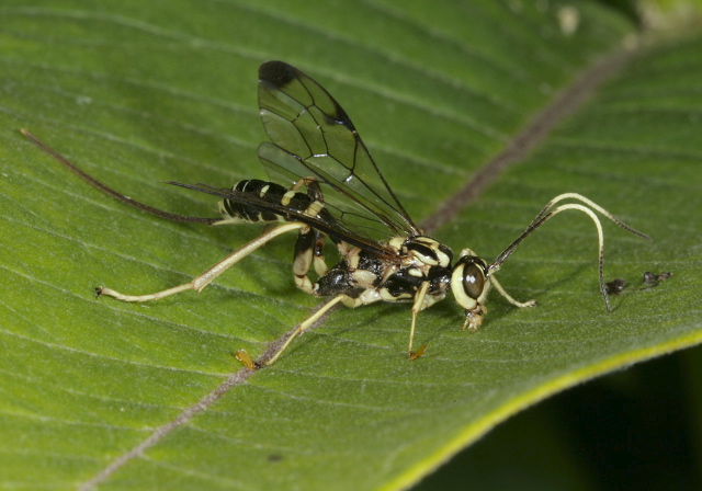
[[475, 310], [485, 302], [490, 289], [487, 262], [464, 249], [451, 273], [451, 290], [461, 307]]

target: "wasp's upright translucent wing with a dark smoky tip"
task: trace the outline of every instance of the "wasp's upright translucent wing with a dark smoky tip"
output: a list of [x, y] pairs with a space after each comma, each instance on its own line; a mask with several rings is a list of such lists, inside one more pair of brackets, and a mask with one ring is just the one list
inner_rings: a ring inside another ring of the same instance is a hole
[[259, 158], [271, 180], [291, 186], [314, 176], [335, 218], [362, 237], [421, 235], [321, 85], [287, 64], [268, 61], [259, 69], [259, 106], [271, 139], [259, 146]]

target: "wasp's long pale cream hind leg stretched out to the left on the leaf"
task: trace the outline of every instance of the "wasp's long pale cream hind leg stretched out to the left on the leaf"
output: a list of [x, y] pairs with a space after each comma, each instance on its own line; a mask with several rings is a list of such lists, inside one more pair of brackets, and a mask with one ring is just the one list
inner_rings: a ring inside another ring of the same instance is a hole
[[261, 237], [247, 243], [246, 246], [237, 249], [231, 254], [227, 255], [225, 259], [223, 259], [217, 264], [212, 266], [210, 270], [205, 271], [203, 274], [194, 278], [192, 282], [185, 283], [183, 285], [174, 286], [173, 288], [165, 289], [162, 292], [157, 292], [150, 295], [124, 295], [110, 288], [100, 287], [97, 289], [97, 294], [98, 296], [107, 295], [109, 297], [114, 297], [117, 300], [122, 300], [122, 301], [148, 301], [148, 300], [158, 300], [160, 298], [169, 297], [171, 295], [174, 295], [181, 292], [186, 292], [189, 289], [194, 289], [195, 292], [200, 293], [205, 286], [211, 284], [217, 276], [219, 276], [222, 273], [227, 271], [234, 264], [236, 264], [241, 259], [249, 255], [251, 252], [256, 251], [258, 248], [260, 248], [271, 239], [274, 239], [275, 237], [286, 232], [304, 229], [306, 227], [308, 226], [305, 224], [301, 224], [298, 221], [281, 225], [280, 227], [271, 230], [270, 232], [267, 232]]

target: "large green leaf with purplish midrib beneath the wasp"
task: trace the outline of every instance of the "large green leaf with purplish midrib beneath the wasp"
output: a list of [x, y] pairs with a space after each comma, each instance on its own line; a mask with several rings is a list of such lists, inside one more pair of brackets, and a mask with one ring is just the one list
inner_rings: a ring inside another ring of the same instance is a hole
[[[523, 408], [702, 339], [699, 35], [625, 52], [631, 16], [586, 1], [8, 0], [0, 25], [3, 488], [403, 489]], [[19, 129], [135, 199], [215, 216], [210, 196], [159, 181], [264, 178], [256, 72], [268, 59], [335, 95], [411, 216], [461, 196], [456, 216], [428, 224], [456, 253], [491, 260], [563, 192], [649, 233], [604, 224], [607, 279], [630, 284], [613, 312], [595, 229], [576, 213], [500, 271], [539, 307], [494, 294], [469, 334], [448, 299], [420, 315], [428, 350], [415, 362], [409, 307], [383, 304], [337, 309], [272, 367], [241, 369], [234, 352], [263, 353], [319, 305], [294, 287], [292, 238], [200, 295], [95, 299], [99, 285], [189, 282], [260, 229], [140, 213]], [[569, 106], [562, 94], [582, 80], [597, 90]], [[542, 141], [530, 132], [548, 107], [573, 114], [546, 113], [557, 125]], [[499, 173], [503, 152], [517, 162]], [[644, 288], [645, 271], [675, 276]]]

